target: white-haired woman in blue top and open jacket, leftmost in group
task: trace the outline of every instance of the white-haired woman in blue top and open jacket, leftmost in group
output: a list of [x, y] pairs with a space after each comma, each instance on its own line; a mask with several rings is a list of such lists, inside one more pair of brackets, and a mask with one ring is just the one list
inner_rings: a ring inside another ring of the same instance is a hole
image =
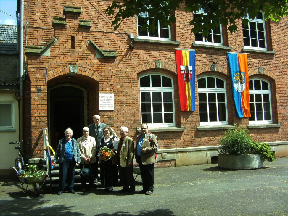
[[80, 164], [80, 151], [77, 140], [72, 138], [73, 131], [71, 128], [65, 130], [65, 138], [59, 140], [57, 150], [55, 152], [53, 165], [59, 163], [59, 192], [61, 195], [65, 189], [65, 180], [67, 177], [68, 192], [75, 194], [74, 191], [74, 173], [76, 163]]

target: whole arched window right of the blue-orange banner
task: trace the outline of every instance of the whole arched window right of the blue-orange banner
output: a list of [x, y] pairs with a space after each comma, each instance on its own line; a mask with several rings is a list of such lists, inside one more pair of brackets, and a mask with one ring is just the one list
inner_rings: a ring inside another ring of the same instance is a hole
[[272, 107], [270, 83], [266, 80], [255, 78], [249, 80], [250, 95], [250, 124], [271, 124]]

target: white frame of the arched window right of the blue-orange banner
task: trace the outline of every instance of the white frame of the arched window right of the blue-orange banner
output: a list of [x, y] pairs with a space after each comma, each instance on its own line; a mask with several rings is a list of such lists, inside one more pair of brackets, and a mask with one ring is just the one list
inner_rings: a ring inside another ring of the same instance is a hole
[[[269, 90], [251, 90], [251, 86], [249, 85], [249, 88], [250, 88], [250, 89], [249, 89], [249, 94], [250, 94], [250, 103], [249, 103], [249, 105], [250, 105], [250, 110], [251, 110], [251, 94], [253, 94], [253, 96], [254, 96], [253, 105], [254, 105], [254, 110], [255, 110], [255, 112], [256, 112], [255, 95], [256, 95], [256, 94], [261, 94], [261, 95], [263, 95], [263, 94], [268, 94], [268, 95], [269, 95], [269, 105], [270, 105], [270, 116], [271, 116], [271, 120], [261, 120], [261, 121], [257, 121], [257, 120], [251, 121], [251, 120], [249, 120], [249, 124], [257, 124], [257, 125], [259, 125], [259, 124], [272, 124], [272, 123], [273, 123], [273, 118], [272, 118], [272, 103], [271, 103], [271, 88], [270, 88], [270, 82], [268, 82], [267, 80], [261, 79], [261, 78], [252, 78], [252, 79], [250, 79], [249, 81], [252, 81], [252, 80], [260, 80], [261, 88], [262, 88], [262, 81], [268, 83], [268, 88], [269, 88]], [[253, 83], [254, 83], [254, 82], [253, 82]], [[264, 110], [264, 103], [263, 103], [263, 96], [262, 96], [262, 115], [263, 115], [262, 117], [263, 117], [263, 119], [264, 119], [264, 112], [265, 112], [265, 110]], [[251, 113], [251, 111], [250, 111], [250, 113]], [[256, 118], [256, 114], [255, 114], [255, 118]]]

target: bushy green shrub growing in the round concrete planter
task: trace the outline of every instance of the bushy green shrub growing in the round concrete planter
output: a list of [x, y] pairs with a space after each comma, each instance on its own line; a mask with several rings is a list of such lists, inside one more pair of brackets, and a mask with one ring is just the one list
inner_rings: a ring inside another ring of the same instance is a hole
[[275, 159], [275, 154], [271, 151], [269, 144], [253, 141], [248, 136], [248, 129], [238, 128], [237, 125], [221, 136], [218, 153], [224, 155], [262, 154], [263, 161], [268, 162], [273, 162]]

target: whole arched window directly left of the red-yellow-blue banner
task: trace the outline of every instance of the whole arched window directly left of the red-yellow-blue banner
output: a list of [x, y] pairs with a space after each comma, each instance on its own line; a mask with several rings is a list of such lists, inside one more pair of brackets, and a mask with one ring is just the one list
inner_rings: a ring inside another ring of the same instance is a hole
[[140, 77], [141, 122], [149, 128], [175, 126], [173, 78], [162, 74]]

